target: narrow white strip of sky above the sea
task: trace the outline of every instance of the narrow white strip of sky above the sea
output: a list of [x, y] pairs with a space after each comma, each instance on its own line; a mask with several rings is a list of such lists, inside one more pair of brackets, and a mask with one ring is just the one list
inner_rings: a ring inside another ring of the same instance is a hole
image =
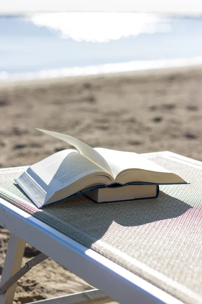
[[201, 0], [6, 0], [1, 15], [35, 12], [146, 12], [202, 15]]

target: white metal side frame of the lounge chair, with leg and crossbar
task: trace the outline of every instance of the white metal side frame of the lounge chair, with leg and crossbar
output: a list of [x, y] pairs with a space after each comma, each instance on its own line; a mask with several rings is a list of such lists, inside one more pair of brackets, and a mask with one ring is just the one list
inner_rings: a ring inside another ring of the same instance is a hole
[[[26, 242], [74, 272], [99, 290], [38, 301], [72, 303], [108, 295], [120, 303], [182, 304], [173, 296], [146, 282], [95, 251], [42, 223], [0, 198], [0, 225], [11, 232], [0, 288], [21, 268]], [[0, 295], [1, 304], [12, 304], [16, 283]], [[88, 296], [89, 295], [89, 296]], [[60, 301], [59, 301], [60, 300]], [[34, 302], [37, 303], [37, 302]]]

